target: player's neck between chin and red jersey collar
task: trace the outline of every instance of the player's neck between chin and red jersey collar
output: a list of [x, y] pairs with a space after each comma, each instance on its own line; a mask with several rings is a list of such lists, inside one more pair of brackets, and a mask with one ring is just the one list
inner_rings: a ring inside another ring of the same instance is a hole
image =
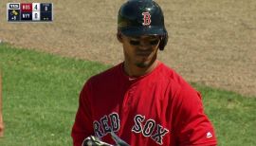
[[141, 68], [141, 67], [138, 67], [137, 65], [127, 64], [126, 62], [124, 62], [123, 69], [124, 69], [124, 72], [130, 77], [140, 77], [152, 72], [157, 66], [157, 64], [158, 64], [158, 61], [155, 60], [155, 62], [149, 65], [148, 67]]

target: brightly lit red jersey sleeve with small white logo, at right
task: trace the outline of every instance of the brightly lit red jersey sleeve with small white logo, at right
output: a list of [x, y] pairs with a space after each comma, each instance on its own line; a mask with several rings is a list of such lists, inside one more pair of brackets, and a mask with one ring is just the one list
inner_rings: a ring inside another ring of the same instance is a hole
[[190, 85], [175, 97], [174, 133], [180, 146], [211, 146], [217, 140], [210, 120], [204, 113], [201, 95]]

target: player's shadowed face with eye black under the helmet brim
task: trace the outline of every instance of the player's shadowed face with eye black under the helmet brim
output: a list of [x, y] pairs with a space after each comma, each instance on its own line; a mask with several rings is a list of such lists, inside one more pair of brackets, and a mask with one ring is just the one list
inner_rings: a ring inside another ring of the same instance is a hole
[[125, 62], [144, 68], [156, 60], [159, 36], [127, 37], [122, 35]]

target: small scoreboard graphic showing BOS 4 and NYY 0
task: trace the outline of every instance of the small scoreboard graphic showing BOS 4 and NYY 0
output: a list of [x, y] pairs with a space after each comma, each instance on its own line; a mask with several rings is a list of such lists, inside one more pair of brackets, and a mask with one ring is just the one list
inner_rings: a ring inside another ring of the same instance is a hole
[[52, 22], [52, 3], [8, 3], [8, 22]]

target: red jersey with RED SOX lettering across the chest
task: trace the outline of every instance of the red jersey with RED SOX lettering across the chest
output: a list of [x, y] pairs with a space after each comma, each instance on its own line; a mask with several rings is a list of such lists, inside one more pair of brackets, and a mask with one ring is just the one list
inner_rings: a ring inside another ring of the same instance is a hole
[[72, 134], [75, 146], [85, 137], [114, 143], [111, 131], [131, 146], [216, 145], [200, 94], [159, 62], [137, 79], [123, 64], [90, 78], [82, 88]]

